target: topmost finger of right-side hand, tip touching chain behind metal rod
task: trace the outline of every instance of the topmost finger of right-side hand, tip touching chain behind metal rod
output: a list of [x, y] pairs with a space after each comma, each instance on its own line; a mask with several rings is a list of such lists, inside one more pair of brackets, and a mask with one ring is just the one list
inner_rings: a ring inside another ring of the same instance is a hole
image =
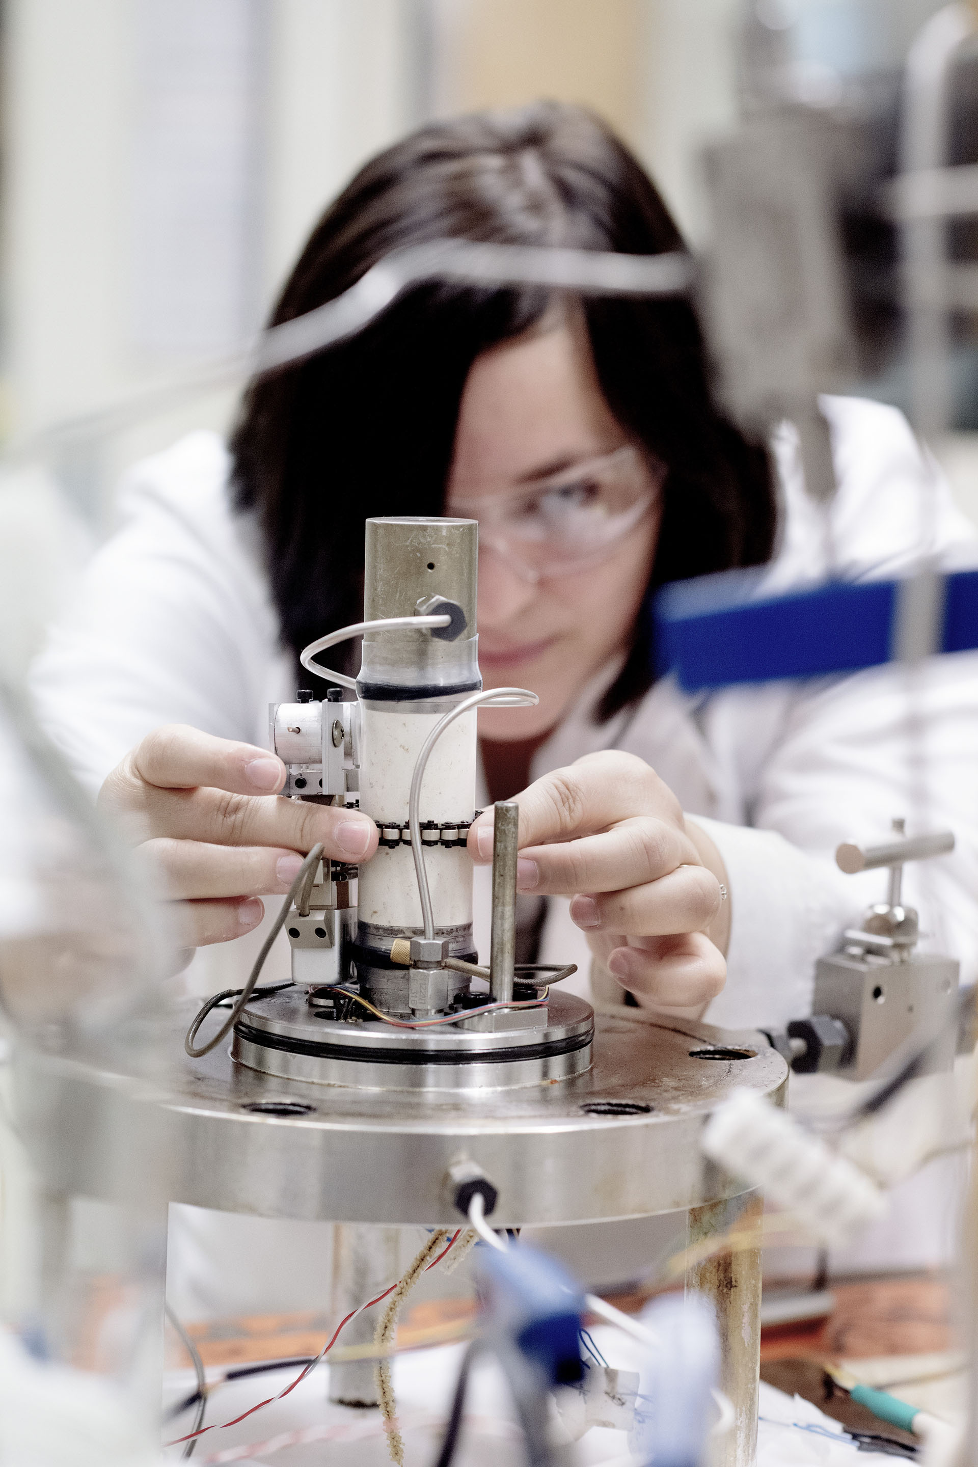
[[[603, 750], [537, 779], [518, 795], [519, 845], [547, 845], [604, 830], [633, 816], [657, 816], [682, 830], [679, 801], [654, 769], [635, 754]], [[469, 851], [488, 861], [493, 845], [484, 835], [491, 811], [472, 824]]]

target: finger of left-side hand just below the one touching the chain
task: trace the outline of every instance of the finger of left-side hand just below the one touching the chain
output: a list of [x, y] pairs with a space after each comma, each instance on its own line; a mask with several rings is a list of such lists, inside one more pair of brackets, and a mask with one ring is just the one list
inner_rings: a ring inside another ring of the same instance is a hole
[[145, 841], [133, 855], [167, 896], [183, 901], [284, 896], [302, 866], [298, 851], [282, 846], [227, 846], [204, 841]]

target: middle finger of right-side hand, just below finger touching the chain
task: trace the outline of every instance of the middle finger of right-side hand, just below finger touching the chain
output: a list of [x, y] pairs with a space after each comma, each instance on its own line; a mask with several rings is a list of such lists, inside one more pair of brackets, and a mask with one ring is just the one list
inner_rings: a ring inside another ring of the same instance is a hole
[[683, 863], [699, 863], [689, 836], [666, 820], [641, 816], [603, 835], [521, 849], [516, 880], [522, 892], [547, 896], [616, 892], [657, 882]]

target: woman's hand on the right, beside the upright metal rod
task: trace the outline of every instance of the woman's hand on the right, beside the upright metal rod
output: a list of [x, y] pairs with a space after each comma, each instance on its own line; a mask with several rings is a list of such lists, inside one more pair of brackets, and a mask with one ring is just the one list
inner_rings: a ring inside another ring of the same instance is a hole
[[[595, 958], [644, 1008], [699, 1015], [726, 980], [723, 858], [658, 775], [616, 750], [585, 754], [519, 802], [518, 889], [572, 896]], [[469, 852], [493, 858], [493, 811]]]

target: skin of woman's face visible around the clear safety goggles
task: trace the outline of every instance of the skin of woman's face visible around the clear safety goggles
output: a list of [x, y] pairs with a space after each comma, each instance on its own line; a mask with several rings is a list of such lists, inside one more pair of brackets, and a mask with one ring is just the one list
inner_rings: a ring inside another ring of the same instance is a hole
[[[584, 323], [572, 320], [504, 342], [475, 359], [465, 383], [447, 513], [491, 522], [491, 500], [613, 453], [633, 442], [598, 384]], [[650, 497], [657, 472], [645, 455]], [[466, 509], [481, 500], [478, 511]], [[487, 513], [485, 513], [487, 512]], [[526, 739], [553, 729], [584, 685], [626, 651], [648, 584], [660, 509], [642, 515], [606, 557], [537, 582], [512, 557], [479, 550], [479, 667], [487, 688], [532, 688], [532, 709], [485, 710], [490, 739]], [[482, 527], [481, 527], [482, 531]], [[491, 537], [490, 537], [491, 538]]]

